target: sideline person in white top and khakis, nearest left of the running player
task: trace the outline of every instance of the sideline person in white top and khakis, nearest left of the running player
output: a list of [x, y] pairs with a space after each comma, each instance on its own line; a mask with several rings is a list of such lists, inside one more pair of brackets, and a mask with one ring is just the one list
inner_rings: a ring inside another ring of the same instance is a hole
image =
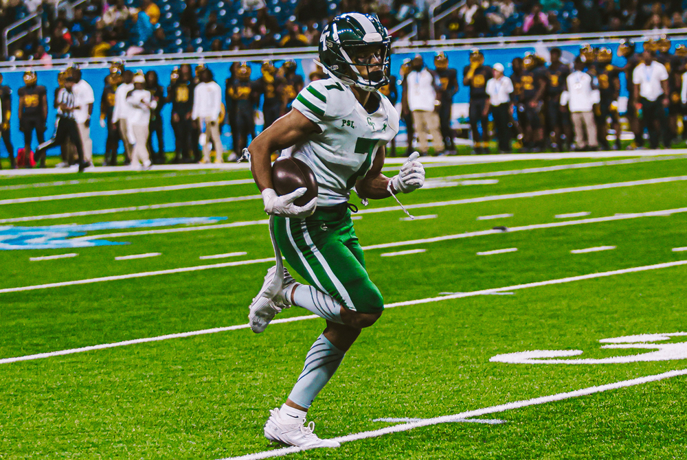
[[193, 94], [193, 111], [191, 118], [196, 123], [205, 125], [205, 144], [201, 163], [210, 163], [210, 149], [214, 144], [215, 163], [224, 163], [224, 148], [219, 128], [219, 117], [222, 111], [222, 89], [214, 81], [212, 71], [203, 69], [201, 82], [196, 85]]

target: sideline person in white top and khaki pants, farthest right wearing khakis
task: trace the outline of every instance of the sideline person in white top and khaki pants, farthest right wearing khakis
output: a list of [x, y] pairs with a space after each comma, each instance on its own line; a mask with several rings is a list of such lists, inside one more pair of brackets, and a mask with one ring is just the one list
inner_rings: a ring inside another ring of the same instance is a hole
[[584, 70], [585, 62], [578, 56], [575, 59], [575, 71], [567, 76], [566, 90], [561, 95], [561, 106], [567, 106], [570, 110], [572, 126], [575, 129], [576, 149], [596, 150], [598, 140], [592, 109], [599, 101], [599, 95], [598, 90], [593, 86], [592, 76]]

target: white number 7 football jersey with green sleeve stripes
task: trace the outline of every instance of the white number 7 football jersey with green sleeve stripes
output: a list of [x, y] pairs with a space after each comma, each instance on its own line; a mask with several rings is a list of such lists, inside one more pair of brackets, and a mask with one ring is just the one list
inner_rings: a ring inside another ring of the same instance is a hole
[[330, 78], [311, 82], [293, 101], [293, 108], [322, 129], [291, 153], [315, 173], [318, 206], [346, 203], [379, 148], [398, 133], [396, 108], [384, 95], [370, 95], [375, 96], [379, 108], [368, 113], [349, 87]]

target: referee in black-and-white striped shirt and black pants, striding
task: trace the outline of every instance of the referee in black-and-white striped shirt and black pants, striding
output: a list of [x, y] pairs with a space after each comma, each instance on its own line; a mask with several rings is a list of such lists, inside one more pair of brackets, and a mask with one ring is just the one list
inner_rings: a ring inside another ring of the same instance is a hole
[[74, 78], [68, 76], [65, 79], [65, 87], [60, 89], [57, 94], [57, 129], [55, 130], [55, 137], [41, 143], [36, 149], [37, 160], [41, 161], [41, 168], [45, 168], [45, 151], [49, 148], [61, 146], [69, 139], [71, 143], [76, 146], [76, 152], [79, 155], [79, 172], [83, 172], [86, 163], [84, 163], [84, 150], [79, 135], [78, 126], [74, 119], [74, 93], [71, 91], [74, 87]]

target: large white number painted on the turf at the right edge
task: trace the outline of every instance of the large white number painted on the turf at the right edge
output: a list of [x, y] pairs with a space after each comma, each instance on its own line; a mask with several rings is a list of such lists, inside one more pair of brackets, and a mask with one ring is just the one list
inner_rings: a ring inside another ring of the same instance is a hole
[[687, 332], [671, 332], [669, 334], [638, 334], [635, 336], [622, 336], [602, 338], [602, 349], [651, 349], [649, 353], [611, 356], [609, 358], [582, 358], [582, 359], [552, 359], [567, 356], [579, 356], [582, 350], [550, 350], [537, 349], [531, 352], [519, 352], [499, 354], [490, 359], [495, 363], [510, 364], [621, 364], [640, 363], [646, 361], [669, 361], [675, 359], [687, 359], [687, 342], [655, 343], [671, 340], [672, 337], [687, 336]]

